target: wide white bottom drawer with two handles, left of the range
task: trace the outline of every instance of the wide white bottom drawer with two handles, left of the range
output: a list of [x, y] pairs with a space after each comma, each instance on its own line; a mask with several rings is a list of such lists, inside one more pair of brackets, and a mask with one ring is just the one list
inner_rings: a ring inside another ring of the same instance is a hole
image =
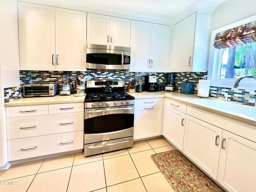
[[8, 161], [49, 155], [84, 147], [84, 132], [76, 131], [8, 140]]

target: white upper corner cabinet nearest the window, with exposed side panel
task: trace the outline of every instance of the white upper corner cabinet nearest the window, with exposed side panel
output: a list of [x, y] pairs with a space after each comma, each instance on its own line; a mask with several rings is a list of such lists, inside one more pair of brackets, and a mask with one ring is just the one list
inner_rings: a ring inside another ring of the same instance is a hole
[[210, 18], [198, 11], [174, 25], [171, 72], [206, 71]]

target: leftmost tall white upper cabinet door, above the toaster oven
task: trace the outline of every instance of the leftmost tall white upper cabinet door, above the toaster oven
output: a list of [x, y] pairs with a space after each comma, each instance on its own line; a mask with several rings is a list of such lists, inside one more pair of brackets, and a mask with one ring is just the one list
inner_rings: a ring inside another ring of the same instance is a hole
[[54, 7], [18, 2], [20, 69], [55, 69]]

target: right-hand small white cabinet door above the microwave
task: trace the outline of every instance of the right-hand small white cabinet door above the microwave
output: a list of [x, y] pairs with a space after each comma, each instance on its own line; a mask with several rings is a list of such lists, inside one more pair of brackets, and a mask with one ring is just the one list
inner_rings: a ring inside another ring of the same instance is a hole
[[131, 20], [110, 17], [110, 45], [130, 47]]

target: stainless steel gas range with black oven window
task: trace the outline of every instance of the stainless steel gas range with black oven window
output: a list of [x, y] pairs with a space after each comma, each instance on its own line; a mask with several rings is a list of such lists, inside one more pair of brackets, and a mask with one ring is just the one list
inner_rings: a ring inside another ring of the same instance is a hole
[[134, 97], [124, 81], [87, 81], [84, 99], [84, 156], [133, 146]]

